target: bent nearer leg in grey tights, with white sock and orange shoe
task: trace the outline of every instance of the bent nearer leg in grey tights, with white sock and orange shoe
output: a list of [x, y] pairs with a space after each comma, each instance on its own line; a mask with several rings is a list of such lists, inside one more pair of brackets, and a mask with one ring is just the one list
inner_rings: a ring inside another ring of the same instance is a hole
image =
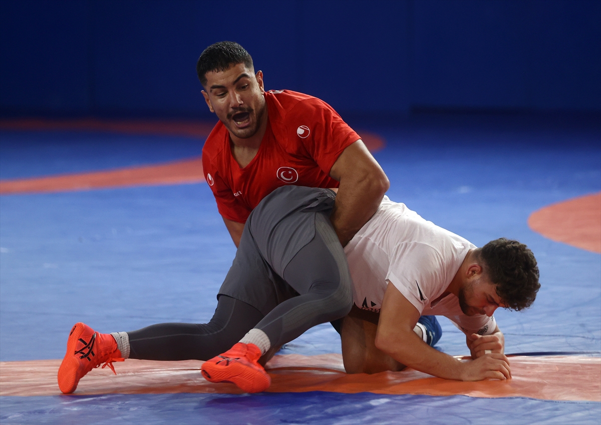
[[260, 355], [269, 355], [273, 347], [349, 312], [352, 282], [343, 248], [328, 215], [317, 213], [314, 225], [315, 236], [294, 255], [283, 273], [285, 283], [299, 295], [269, 311], [231, 350], [204, 363], [201, 370], [209, 381], [230, 381], [248, 392], [263, 391], [269, 387], [266, 374], [239, 361], [246, 347], [256, 347]]

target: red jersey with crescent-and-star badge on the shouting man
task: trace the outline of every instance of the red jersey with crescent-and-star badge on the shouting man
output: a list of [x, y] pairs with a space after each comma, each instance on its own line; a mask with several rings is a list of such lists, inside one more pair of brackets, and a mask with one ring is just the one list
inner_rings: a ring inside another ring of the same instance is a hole
[[246, 167], [234, 159], [230, 133], [219, 121], [203, 148], [204, 175], [219, 213], [243, 223], [274, 189], [285, 185], [338, 188], [328, 174], [359, 136], [327, 103], [288, 90], [264, 94], [268, 122], [260, 148]]

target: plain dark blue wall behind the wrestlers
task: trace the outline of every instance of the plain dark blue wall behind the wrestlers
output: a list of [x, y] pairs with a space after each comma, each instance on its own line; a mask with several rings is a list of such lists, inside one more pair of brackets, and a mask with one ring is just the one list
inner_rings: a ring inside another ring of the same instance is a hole
[[221, 40], [343, 116], [601, 111], [597, 0], [4, 0], [0, 111], [207, 117], [195, 62]]

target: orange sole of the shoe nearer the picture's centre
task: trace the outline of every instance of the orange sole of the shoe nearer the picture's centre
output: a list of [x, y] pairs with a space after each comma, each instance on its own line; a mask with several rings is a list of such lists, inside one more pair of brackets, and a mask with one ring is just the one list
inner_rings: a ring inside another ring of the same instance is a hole
[[213, 363], [203, 364], [201, 373], [204, 379], [209, 382], [215, 384], [231, 382], [246, 393], [260, 393], [267, 390], [271, 385], [271, 378], [267, 373], [261, 373], [252, 367], [237, 362], [228, 366]]

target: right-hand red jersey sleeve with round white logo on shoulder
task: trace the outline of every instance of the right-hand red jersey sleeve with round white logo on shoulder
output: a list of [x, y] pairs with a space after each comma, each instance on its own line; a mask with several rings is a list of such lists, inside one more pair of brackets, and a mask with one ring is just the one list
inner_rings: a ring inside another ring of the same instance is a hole
[[361, 139], [334, 109], [312, 97], [299, 102], [287, 114], [287, 133], [296, 133], [308, 154], [329, 174], [338, 156]]

